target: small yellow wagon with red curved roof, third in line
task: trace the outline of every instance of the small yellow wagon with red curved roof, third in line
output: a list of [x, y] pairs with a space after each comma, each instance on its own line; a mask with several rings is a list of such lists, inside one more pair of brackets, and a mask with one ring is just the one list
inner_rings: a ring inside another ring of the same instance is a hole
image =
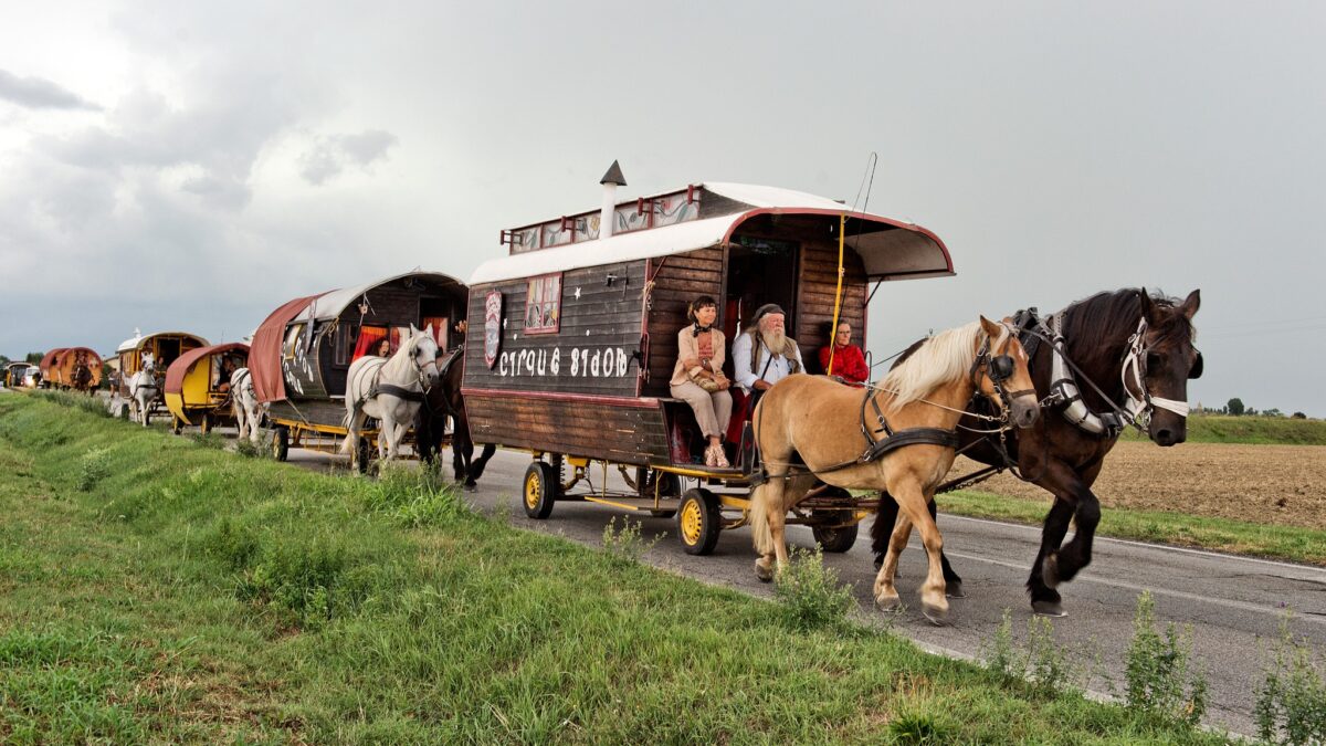
[[166, 409], [175, 433], [186, 425], [208, 433], [217, 425], [235, 422], [229, 392], [219, 389], [227, 361], [232, 370], [248, 365], [248, 345], [229, 342], [191, 349], [166, 369]]

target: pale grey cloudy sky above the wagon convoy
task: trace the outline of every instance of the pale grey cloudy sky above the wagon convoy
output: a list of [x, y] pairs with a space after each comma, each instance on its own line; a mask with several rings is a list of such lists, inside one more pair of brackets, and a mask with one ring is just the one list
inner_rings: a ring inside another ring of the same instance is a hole
[[[812, 7], [815, 5], [815, 7]], [[935, 231], [869, 348], [1201, 289], [1189, 400], [1326, 417], [1319, 3], [7, 3], [0, 353], [296, 296], [704, 181]], [[865, 199], [862, 196], [861, 199]]]

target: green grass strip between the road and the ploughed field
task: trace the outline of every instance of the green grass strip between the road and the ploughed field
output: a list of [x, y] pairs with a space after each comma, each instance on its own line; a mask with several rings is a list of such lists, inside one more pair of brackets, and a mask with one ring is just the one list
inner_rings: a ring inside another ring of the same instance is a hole
[[[1044, 523], [1045, 514], [1050, 508], [1049, 495], [1044, 500], [1029, 500], [979, 490], [948, 492], [936, 496], [936, 502], [939, 510], [956, 515], [1029, 524]], [[1326, 564], [1326, 531], [1294, 526], [1265, 526], [1227, 518], [1102, 507], [1097, 534], [1288, 561]]]

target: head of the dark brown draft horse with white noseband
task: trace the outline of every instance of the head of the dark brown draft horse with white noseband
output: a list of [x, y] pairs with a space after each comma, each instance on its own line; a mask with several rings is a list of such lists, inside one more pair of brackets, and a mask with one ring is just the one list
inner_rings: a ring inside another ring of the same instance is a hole
[[1151, 413], [1147, 435], [1160, 446], [1188, 438], [1188, 380], [1201, 377], [1201, 352], [1193, 346], [1192, 317], [1201, 291], [1183, 303], [1140, 291], [1142, 320], [1124, 353], [1123, 385]]

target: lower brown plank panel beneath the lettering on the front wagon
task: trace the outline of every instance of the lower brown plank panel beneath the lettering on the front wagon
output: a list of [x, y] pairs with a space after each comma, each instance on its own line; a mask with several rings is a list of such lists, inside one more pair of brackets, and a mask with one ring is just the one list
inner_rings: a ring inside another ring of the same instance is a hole
[[553, 398], [468, 390], [465, 408], [469, 431], [480, 443], [638, 466], [670, 462], [667, 429], [658, 400]]

